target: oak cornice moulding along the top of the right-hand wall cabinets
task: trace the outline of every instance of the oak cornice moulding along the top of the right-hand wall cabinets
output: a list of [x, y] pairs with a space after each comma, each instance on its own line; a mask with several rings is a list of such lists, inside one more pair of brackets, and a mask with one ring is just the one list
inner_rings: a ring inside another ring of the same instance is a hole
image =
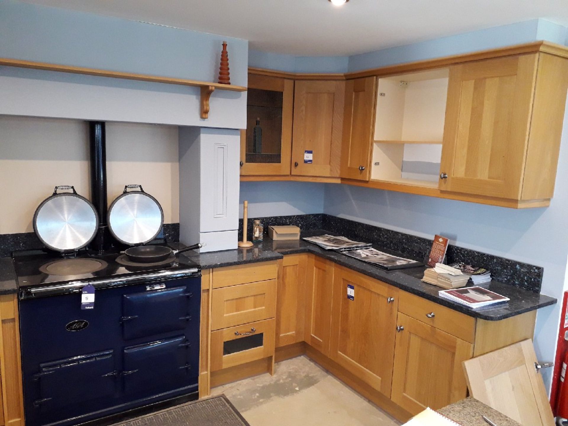
[[422, 61], [404, 62], [402, 64], [388, 65], [381, 68], [371, 68], [362, 71], [355, 71], [346, 73], [345, 78], [350, 80], [352, 78], [370, 76], [389, 76], [432, 68], [441, 68], [443, 66], [460, 64], [462, 62], [479, 61], [482, 59], [522, 55], [523, 53], [536, 52], [550, 53], [551, 55], [568, 58], [568, 47], [560, 44], [550, 43], [549, 41], [534, 41], [532, 43], [516, 44], [496, 49], [487, 49], [485, 51], [461, 53], [460, 55], [444, 56]]

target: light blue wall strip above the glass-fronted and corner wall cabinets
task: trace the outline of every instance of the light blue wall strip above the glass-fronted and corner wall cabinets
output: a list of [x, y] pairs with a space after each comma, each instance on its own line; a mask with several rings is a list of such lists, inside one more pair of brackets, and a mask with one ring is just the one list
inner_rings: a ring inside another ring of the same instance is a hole
[[249, 66], [290, 73], [345, 73], [346, 56], [291, 56], [249, 49]]

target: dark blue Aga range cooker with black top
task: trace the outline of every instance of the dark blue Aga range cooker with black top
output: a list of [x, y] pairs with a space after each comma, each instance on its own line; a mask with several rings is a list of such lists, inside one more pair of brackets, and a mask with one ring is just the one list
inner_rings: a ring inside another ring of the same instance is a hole
[[[197, 399], [201, 270], [178, 254], [15, 255], [27, 426], [69, 426]], [[93, 308], [82, 289], [95, 289]]]

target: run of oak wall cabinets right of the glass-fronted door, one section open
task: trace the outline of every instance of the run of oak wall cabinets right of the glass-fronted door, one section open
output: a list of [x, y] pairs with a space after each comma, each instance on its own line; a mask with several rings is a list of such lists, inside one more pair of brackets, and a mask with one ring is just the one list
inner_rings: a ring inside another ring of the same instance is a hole
[[[268, 73], [295, 81], [290, 173], [241, 180], [335, 182], [512, 208], [550, 204], [566, 47], [537, 41], [328, 78]], [[303, 160], [310, 151], [312, 164]]]

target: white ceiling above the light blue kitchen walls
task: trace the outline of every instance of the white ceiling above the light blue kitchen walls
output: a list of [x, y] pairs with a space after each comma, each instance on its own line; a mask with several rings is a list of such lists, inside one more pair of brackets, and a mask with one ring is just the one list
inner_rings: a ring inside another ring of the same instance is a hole
[[26, 0], [210, 32], [251, 49], [348, 56], [544, 18], [568, 26], [568, 0]]

